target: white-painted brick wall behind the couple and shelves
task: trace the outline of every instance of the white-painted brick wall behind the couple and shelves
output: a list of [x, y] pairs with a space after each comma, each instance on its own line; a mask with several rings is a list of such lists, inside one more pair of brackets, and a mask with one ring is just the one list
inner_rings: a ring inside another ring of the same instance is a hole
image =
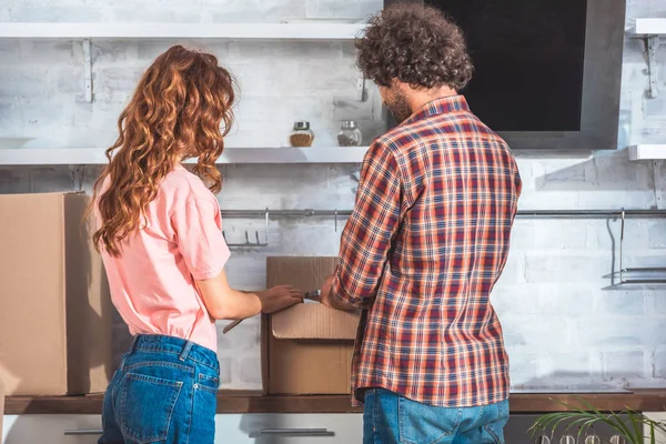
[[[365, 17], [381, 0], [4, 0], [3, 21], [275, 22], [297, 17]], [[627, 28], [636, 17], [666, 17], [664, 0], [628, 0]], [[32, 147], [107, 145], [115, 119], [141, 71], [172, 42], [93, 41], [94, 102], [82, 101], [78, 44], [0, 41], [0, 137], [33, 137]], [[294, 120], [307, 119], [316, 144], [332, 144], [337, 121], [360, 120], [367, 139], [383, 125], [376, 91], [355, 101], [353, 46], [326, 42], [186, 42], [216, 53], [241, 88], [235, 147], [280, 145]], [[666, 65], [666, 50], [658, 58]], [[618, 147], [662, 141], [666, 98], [644, 98], [645, 58], [637, 41], [625, 50]], [[663, 82], [662, 82], [663, 83]], [[666, 91], [665, 91], [666, 94]], [[517, 153], [524, 180], [522, 209], [664, 208], [666, 165], [630, 163], [625, 151]], [[90, 189], [95, 169], [85, 171]], [[356, 167], [228, 165], [220, 195], [225, 209], [350, 209]], [[65, 168], [0, 170], [0, 192], [72, 190]], [[256, 220], [225, 220], [230, 242]], [[342, 226], [342, 224], [341, 224]], [[340, 228], [341, 228], [340, 226]], [[260, 231], [261, 233], [261, 231]], [[232, 284], [260, 289], [265, 256], [335, 254], [332, 220], [271, 222], [271, 245], [235, 251]], [[517, 220], [511, 258], [493, 294], [512, 357], [515, 386], [527, 389], [604, 383], [666, 382], [666, 291], [613, 287], [618, 266], [618, 221]], [[632, 220], [626, 265], [664, 264], [666, 222]], [[115, 327], [117, 351], [128, 345]], [[259, 323], [246, 321], [220, 335], [223, 387], [259, 386]]]

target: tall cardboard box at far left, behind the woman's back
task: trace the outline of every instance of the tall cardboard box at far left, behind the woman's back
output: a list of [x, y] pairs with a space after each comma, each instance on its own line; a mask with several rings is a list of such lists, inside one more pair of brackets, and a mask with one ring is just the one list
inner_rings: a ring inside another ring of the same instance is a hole
[[8, 395], [103, 392], [112, 307], [89, 198], [0, 195], [0, 379]]

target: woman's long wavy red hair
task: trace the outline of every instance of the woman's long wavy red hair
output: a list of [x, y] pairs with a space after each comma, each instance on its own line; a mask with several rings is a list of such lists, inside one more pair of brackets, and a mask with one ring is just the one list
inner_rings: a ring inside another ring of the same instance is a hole
[[213, 193], [220, 191], [215, 161], [233, 122], [233, 87], [231, 73], [212, 54], [175, 46], [155, 59], [120, 114], [120, 135], [94, 185], [98, 249], [121, 254], [121, 241], [139, 229], [162, 179], [185, 159], [196, 158], [193, 172]]

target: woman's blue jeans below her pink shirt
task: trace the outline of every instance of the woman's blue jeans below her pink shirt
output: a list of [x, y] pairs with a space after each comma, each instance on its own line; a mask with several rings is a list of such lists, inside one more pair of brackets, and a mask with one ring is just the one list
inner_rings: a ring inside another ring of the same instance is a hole
[[100, 444], [212, 444], [220, 366], [215, 352], [179, 337], [139, 335], [115, 372]]

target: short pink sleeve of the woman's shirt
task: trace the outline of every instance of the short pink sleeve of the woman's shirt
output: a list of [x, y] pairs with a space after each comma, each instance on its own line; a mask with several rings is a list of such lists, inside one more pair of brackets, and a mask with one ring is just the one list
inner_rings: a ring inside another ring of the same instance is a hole
[[220, 274], [231, 253], [222, 235], [216, 202], [193, 199], [171, 216], [175, 242], [192, 276], [198, 280]]

